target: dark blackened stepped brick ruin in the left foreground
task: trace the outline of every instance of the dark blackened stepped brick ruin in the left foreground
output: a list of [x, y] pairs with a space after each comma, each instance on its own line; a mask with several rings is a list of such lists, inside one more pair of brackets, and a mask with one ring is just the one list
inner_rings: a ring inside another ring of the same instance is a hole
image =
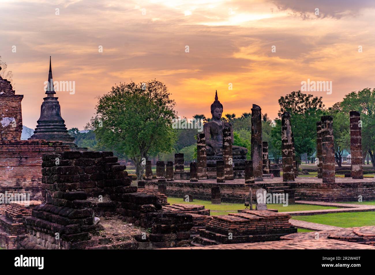
[[[55, 163], [56, 158], [59, 164]], [[163, 196], [145, 190], [138, 192], [136, 186], [131, 186], [124, 168], [112, 152], [43, 155], [46, 203], [35, 207], [32, 215], [25, 218], [27, 238], [20, 247], [137, 249], [190, 245], [192, 216], [163, 210]], [[114, 215], [114, 220], [121, 221], [122, 217], [137, 223], [144, 228], [144, 238], [134, 235], [126, 241], [114, 241], [101, 235], [104, 227], [101, 221], [97, 223], [97, 215]], [[151, 231], [147, 232], [147, 228]]]

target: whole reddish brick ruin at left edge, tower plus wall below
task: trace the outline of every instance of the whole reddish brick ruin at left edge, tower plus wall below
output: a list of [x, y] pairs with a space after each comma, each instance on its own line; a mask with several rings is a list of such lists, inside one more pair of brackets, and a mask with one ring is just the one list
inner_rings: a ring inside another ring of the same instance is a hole
[[[41, 200], [42, 154], [67, 151], [61, 141], [20, 140], [22, 133], [21, 101], [12, 85], [0, 77], [0, 193], [25, 193], [30, 200]], [[5, 214], [8, 204], [0, 204], [0, 215]]]

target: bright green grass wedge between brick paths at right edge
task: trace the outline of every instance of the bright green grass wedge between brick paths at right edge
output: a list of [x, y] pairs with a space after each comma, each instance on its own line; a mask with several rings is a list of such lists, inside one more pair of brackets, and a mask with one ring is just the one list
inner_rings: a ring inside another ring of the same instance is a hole
[[375, 212], [372, 211], [293, 216], [292, 219], [339, 227], [375, 226]]

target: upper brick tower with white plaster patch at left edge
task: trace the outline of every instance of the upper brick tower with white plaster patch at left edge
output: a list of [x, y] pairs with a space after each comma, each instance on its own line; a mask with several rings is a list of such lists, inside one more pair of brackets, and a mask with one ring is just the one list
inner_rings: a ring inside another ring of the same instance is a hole
[[12, 85], [0, 77], [0, 141], [20, 140], [22, 133], [21, 101]]

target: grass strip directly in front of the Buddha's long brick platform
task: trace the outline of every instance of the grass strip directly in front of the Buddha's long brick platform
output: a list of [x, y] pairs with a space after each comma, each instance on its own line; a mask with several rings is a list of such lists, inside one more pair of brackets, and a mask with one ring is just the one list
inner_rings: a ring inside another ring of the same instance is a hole
[[[204, 205], [206, 209], [210, 209], [212, 216], [216, 215], [227, 215], [228, 213], [237, 213], [237, 210], [245, 209], [243, 204], [229, 204], [222, 202], [221, 204], [211, 204], [210, 201], [195, 200], [193, 202], [184, 202], [182, 198], [171, 198], [168, 197], [170, 204], [197, 204]], [[255, 204], [253, 205], [255, 208]], [[277, 209], [279, 212], [285, 211], [302, 211], [302, 210], [320, 210], [320, 209], [333, 209], [336, 207], [326, 207], [320, 205], [309, 205], [309, 204], [293, 204], [283, 207], [282, 204], [267, 204], [268, 208]]]

